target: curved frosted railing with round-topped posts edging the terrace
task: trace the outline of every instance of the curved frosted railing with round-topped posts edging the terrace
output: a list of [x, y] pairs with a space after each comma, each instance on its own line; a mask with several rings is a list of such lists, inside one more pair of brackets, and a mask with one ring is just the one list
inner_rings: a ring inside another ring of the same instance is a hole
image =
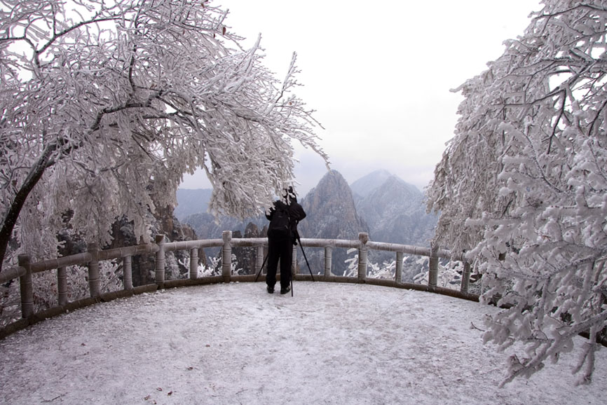
[[[18, 266], [7, 268], [0, 273], [0, 283], [6, 283], [18, 278], [20, 281], [21, 296], [21, 315], [22, 319], [8, 325], [0, 330], [0, 338], [11, 334], [13, 331], [27, 327], [29, 324], [39, 322], [47, 317], [52, 317], [65, 313], [69, 310], [88, 306], [101, 301], [109, 301], [133, 294], [141, 294], [146, 291], [156, 289], [184, 287], [196, 284], [211, 284], [218, 282], [252, 282], [258, 280], [256, 276], [260, 272], [264, 263], [264, 248], [268, 245], [267, 238], [232, 238], [231, 231], [224, 231], [221, 239], [189, 240], [183, 242], [165, 242], [164, 235], [156, 236], [154, 243], [146, 245], [137, 245], [130, 247], [120, 247], [116, 249], [101, 250], [95, 244], [88, 245], [88, 251], [85, 253], [64, 256], [57, 259], [39, 261], [32, 263], [28, 255], [19, 256]], [[368, 284], [378, 284], [390, 287], [400, 287], [406, 289], [418, 289], [423, 291], [432, 291], [439, 294], [446, 294], [458, 298], [478, 300], [478, 296], [468, 293], [468, 283], [470, 280], [470, 264], [463, 261], [461, 254], [452, 254], [446, 249], [437, 249], [434, 247], [415, 247], [410, 245], [398, 245], [393, 243], [372, 242], [367, 233], [359, 233], [358, 240], [335, 240], [335, 239], [301, 239], [303, 247], [317, 247], [325, 250], [325, 273], [323, 275], [313, 276], [311, 273], [298, 272], [297, 250], [294, 246], [293, 271], [294, 280], [318, 280], [325, 282], [364, 282]], [[198, 275], [198, 254], [200, 249], [207, 247], [221, 247], [221, 275], [199, 277]], [[231, 270], [231, 256], [233, 247], [255, 247], [256, 261], [255, 271], [252, 275], [233, 275]], [[332, 275], [332, 251], [335, 248], [358, 249], [358, 268], [357, 277], [345, 277]], [[189, 278], [179, 280], [165, 280], [165, 254], [179, 250], [189, 251]], [[376, 279], [367, 277], [367, 253], [369, 250], [381, 250], [395, 252], [396, 269], [393, 280]], [[303, 251], [302, 251], [303, 252]], [[131, 259], [135, 255], [155, 255], [155, 280], [154, 284], [146, 284], [139, 287], [132, 285]], [[429, 275], [428, 284], [414, 284], [402, 282], [402, 258], [403, 254], [412, 254], [417, 256], [428, 256]], [[440, 258], [463, 261], [464, 270], [462, 275], [461, 287], [459, 291], [437, 287], [438, 260]], [[100, 261], [119, 259], [123, 267], [123, 284], [121, 291], [113, 291], [101, 294], [100, 291]], [[88, 267], [88, 287], [90, 298], [83, 298], [78, 301], [68, 302], [67, 288], [67, 267], [68, 266], [87, 266]], [[34, 313], [34, 289], [32, 285], [32, 275], [43, 271], [57, 269], [57, 306], [39, 313]], [[265, 280], [259, 278], [259, 280]]]

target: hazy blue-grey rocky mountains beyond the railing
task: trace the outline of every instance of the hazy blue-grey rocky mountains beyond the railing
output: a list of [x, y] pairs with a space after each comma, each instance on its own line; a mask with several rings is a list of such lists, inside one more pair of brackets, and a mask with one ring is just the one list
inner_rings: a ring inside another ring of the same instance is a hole
[[[175, 216], [192, 226], [198, 238], [221, 238], [222, 231], [233, 231], [238, 238], [245, 235], [245, 229], [247, 237], [266, 235], [268, 220], [261, 213], [245, 221], [223, 217], [217, 224], [205, 212], [210, 195], [210, 189], [177, 191]], [[305, 197], [300, 196], [299, 203], [307, 214], [299, 224], [301, 238], [357, 240], [358, 233], [367, 232], [369, 240], [376, 242], [429, 246], [437, 222], [435, 215], [425, 213], [423, 193], [385, 170], [367, 174], [350, 185], [339, 172], [331, 170]], [[323, 254], [322, 249], [306, 249], [313, 271], [324, 268]], [[299, 249], [298, 256], [301, 259]], [[381, 262], [392, 256], [370, 252], [369, 259]], [[335, 268], [343, 269], [346, 259], [346, 249], [334, 249], [334, 274], [342, 273]]]

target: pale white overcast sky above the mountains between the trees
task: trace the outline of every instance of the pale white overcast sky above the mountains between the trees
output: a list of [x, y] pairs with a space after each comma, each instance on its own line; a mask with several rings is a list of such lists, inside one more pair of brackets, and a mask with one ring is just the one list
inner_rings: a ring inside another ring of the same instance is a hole
[[[348, 183], [378, 169], [423, 189], [453, 136], [462, 97], [450, 92], [486, 70], [503, 41], [523, 34], [539, 0], [214, 0], [245, 46], [261, 34], [265, 64], [283, 78], [298, 55], [297, 90], [315, 118], [332, 169]], [[326, 173], [297, 149], [296, 189]], [[182, 188], [208, 188], [203, 173]]]

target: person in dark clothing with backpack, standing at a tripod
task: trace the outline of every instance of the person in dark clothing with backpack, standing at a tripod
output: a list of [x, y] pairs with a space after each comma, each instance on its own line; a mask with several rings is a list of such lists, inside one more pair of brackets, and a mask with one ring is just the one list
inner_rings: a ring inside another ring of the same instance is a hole
[[291, 266], [293, 246], [297, 240], [297, 224], [306, 218], [306, 212], [299, 203], [293, 188], [289, 187], [284, 196], [285, 202], [276, 200], [266, 218], [268, 226], [268, 273], [266, 284], [268, 293], [273, 294], [276, 284], [276, 271], [280, 259], [280, 294], [291, 291]]

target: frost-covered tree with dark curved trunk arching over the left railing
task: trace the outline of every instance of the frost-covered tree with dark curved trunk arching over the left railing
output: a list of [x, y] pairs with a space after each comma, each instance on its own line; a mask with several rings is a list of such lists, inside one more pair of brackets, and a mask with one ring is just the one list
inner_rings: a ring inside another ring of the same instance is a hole
[[146, 213], [199, 167], [213, 213], [252, 216], [291, 180], [292, 142], [326, 160], [295, 57], [277, 80], [226, 16], [207, 0], [0, 0], [4, 259], [55, 254], [67, 213], [100, 245], [120, 217], [148, 240]]

